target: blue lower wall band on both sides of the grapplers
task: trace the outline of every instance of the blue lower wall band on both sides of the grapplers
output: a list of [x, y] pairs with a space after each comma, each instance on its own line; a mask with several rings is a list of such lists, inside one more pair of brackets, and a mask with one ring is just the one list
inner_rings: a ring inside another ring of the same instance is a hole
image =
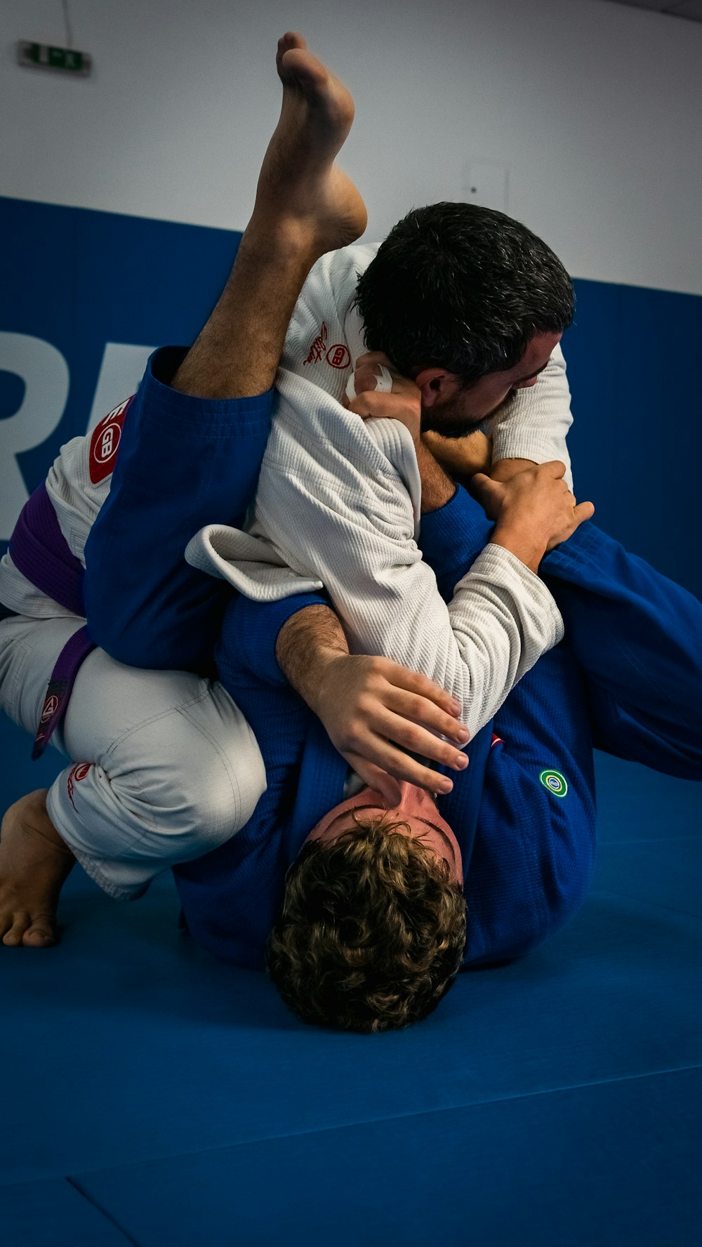
[[[34, 489], [59, 446], [85, 433], [105, 343], [191, 342], [241, 234], [7, 198], [0, 231], [0, 329], [54, 343], [71, 370], [59, 428], [20, 455]], [[576, 292], [576, 324], [564, 339], [576, 491], [595, 501], [601, 527], [702, 597], [702, 298], [584, 279]]]

